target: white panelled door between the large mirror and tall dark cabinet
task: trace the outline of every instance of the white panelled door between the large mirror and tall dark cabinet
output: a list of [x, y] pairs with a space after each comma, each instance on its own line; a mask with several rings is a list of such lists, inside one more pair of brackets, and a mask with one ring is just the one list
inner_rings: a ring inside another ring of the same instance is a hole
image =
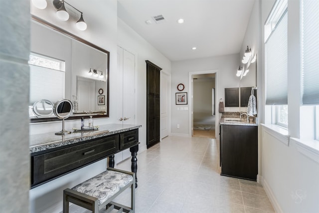
[[[135, 124], [135, 55], [119, 46], [117, 82], [117, 122]], [[129, 157], [130, 149], [126, 149], [115, 155], [115, 164]]]

